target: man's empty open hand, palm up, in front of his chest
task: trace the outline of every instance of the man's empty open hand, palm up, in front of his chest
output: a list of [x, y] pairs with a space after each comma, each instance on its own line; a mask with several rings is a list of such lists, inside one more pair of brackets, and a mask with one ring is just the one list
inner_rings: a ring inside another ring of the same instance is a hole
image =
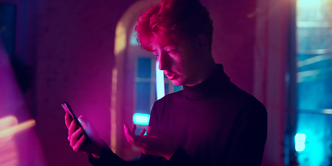
[[124, 124], [124, 135], [126, 135], [127, 141], [138, 147], [143, 154], [163, 156], [169, 160], [178, 148], [172, 136], [156, 127], [147, 127], [146, 136], [144, 136], [145, 129], [142, 129], [138, 136], [135, 135], [135, 131], [136, 124], [133, 124], [131, 129], [128, 124]]

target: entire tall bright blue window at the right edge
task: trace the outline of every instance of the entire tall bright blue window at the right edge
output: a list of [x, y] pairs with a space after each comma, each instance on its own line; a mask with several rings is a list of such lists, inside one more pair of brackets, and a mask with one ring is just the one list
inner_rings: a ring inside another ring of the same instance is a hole
[[332, 3], [297, 0], [297, 135], [299, 165], [331, 165]]

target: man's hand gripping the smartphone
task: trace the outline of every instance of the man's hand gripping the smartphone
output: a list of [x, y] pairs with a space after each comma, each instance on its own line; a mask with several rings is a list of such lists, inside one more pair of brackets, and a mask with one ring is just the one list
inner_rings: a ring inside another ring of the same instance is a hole
[[93, 127], [93, 124], [83, 116], [80, 116], [78, 120], [80, 120], [82, 127], [91, 139], [91, 144], [84, 143], [86, 136], [83, 135], [80, 138], [83, 133], [82, 129], [78, 128], [75, 120], [71, 118], [69, 113], [66, 113], [64, 121], [68, 129], [68, 140], [71, 142], [70, 145], [73, 148], [73, 151], [82, 151], [86, 154], [92, 154], [95, 158], [100, 158], [100, 155], [102, 154], [102, 140], [99, 138], [98, 131]]

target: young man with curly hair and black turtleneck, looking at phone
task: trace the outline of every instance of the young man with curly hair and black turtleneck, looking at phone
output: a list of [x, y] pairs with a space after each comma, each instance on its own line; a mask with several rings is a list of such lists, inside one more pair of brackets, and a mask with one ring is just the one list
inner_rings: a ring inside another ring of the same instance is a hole
[[[267, 135], [266, 109], [230, 82], [212, 58], [212, 19], [199, 0], [163, 0], [143, 13], [138, 42], [158, 58], [159, 69], [183, 91], [166, 95], [151, 110], [147, 136], [124, 125], [128, 142], [142, 151], [138, 165], [261, 165]], [[68, 140], [93, 165], [128, 163], [92, 130], [91, 145], [66, 114]], [[89, 135], [90, 136], [90, 135]]]

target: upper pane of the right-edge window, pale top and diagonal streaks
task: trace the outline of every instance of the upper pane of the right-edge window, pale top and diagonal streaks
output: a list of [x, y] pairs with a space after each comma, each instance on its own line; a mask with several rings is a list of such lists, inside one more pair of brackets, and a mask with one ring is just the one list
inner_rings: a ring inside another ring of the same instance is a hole
[[299, 111], [332, 109], [332, 14], [329, 3], [331, 0], [297, 0]]

